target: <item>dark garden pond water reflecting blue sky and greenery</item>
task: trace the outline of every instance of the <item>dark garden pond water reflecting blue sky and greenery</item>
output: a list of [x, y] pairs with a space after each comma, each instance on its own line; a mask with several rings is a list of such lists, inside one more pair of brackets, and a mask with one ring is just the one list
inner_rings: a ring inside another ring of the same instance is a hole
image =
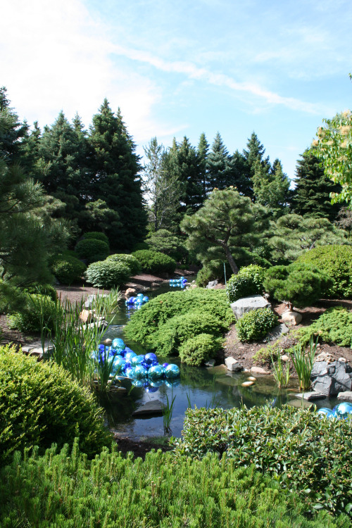
[[[149, 290], [149, 298], [165, 293], [166, 291], [180, 291], [180, 287], [170, 287], [169, 284], [163, 284], [153, 290]], [[121, 305], [118, 313], [111, 321], [111, 326], [104, 336], [113, 339], [121, 337], [125, 344], [132, 348], [134, 352], [146, 353], [147, 351], [138, 343], [125, 339], [123, 329], [134, 312], [135, 308], [127, 308]], [[128, 436], [131, 439], [139, 439], [142, 436], [163, 436], [163, 417], [132, 417], [135, 409], [149, 401], [160, 400], [169, 402], [175, 396], [175, 403], [172, 410], [170, 429], [172, 436], [181, 436], [184, 413], [191, 405], [200, 407], [222, 407], [231, 408], [245, 405], [252, 406], [281, 406], [289, 402], [294, 406], [301, 406], [302, 401], [294, 398], [298, 392], [297, 382], [287, 389], [277, 389], [272, 376], [255, 375], [256, 382], [252, 386], [241, 386], [245, 382], [249, 373], [245, 372], [228, 372], [222, 365], [215, 367], [188, 367], [180, 363], [180, 358], [158, 357], [159, 363], [175, 363], [180, 367], [180, 379], [175, 384], [163, 384], [155, 389], [155, 392], [147, 392], [143, 387], [132, 385], [130, 379], [122, 379], [121, 385], [127, 389], [127, 394], [111, 394], [108, 400], [103, 402], [106, 410], [109, 427], [122, 436]], [[304, 404], [305, 402], [303, 402]], [[333, 407], [335, 401], [319, 400], [316, 402], [317, 407]]]

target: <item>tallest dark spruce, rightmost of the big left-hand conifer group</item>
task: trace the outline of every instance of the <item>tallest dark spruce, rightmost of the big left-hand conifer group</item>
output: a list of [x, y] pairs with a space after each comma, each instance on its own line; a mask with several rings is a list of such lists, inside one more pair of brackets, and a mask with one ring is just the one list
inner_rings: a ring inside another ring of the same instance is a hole
[[116, 222], [106, 234], [114, 249], [132, 249], [144, 239], [147, 224], [139, 156], [120, 108], [115, 115], [107, 99], [92, 119], [89, 142], [93, 151], [95, 199], [104, 201], [120, 216], [121, 225]]

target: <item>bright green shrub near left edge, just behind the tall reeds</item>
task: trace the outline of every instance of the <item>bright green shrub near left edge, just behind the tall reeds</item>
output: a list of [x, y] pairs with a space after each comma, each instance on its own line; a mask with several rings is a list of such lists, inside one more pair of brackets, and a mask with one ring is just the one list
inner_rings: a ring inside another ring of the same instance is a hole
[[20, 311], [8, 316], [8, 326], [20, 332], [40, 332], [54, 327], [55, 303], [49, 295], [27, 294]]

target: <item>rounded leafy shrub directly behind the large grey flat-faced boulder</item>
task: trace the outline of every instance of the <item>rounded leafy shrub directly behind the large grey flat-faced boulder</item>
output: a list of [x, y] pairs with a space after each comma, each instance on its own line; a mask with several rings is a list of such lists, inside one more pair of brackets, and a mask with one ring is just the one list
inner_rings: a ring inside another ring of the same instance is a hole
[[263, 293], [265, 270], [261, 266], [251, 264], [241, 268], [237, 275], [232, 275], [227, 281], [226, 294], [230, 303], [249, 295]]

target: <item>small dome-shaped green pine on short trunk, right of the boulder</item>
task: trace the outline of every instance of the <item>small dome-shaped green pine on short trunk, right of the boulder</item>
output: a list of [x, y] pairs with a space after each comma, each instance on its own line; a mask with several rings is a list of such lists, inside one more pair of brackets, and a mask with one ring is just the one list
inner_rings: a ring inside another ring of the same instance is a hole
[[265, 272], [264, 289], [277, 301], [288, 301], [291, 306], [303, 308], [313, 305], [329, 288], [327, 275], [305, 263], [273, 266]]

